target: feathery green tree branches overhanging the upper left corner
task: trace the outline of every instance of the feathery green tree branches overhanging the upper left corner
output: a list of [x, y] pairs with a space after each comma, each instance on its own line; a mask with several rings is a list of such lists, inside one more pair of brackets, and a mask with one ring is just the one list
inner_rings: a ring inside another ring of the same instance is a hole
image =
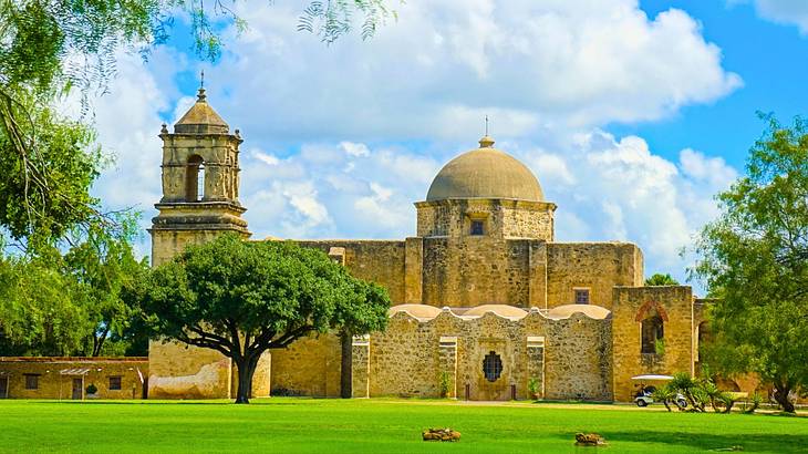
[[[395, 11], [384, 0], [312, 1], [299, 29], [332, 42], [364, 17], [362, 37]], [[189, 18], [197, 55], [215, 61], [221, 21], [245, 22], [217, 0], [3, 0], [0, 2], [0, 227], [15, 239], [54, 240], [103, 216], [89, 189], [103, 167], [92, 130], [55, 113], [72, 89], [103, 92], [118, 50], [144, 56], [164, 42], [175, 18]]]

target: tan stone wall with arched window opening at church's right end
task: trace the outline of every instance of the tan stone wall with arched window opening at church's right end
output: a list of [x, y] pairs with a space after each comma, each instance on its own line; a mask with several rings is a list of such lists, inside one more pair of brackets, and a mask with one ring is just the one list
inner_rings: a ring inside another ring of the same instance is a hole
[[[631, 401], [639, 374], [693, 374], [693, 291], [688, 286], [615, 287], [612, 306], [614, 399]], [[649, 311], [663, 319], [663, 354], [641, 353], [642, 320]]]

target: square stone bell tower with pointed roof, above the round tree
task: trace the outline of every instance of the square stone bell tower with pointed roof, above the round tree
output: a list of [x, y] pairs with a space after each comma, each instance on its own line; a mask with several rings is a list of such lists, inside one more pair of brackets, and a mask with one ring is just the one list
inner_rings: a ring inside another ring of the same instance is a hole
[[163, 140], [163, 197], [152, 219], [152, 266], [170, 260], [188, 244], [234, 231], [250, 236], [238, 200], [238, 147], [242, 140], [208, 104], [205, 89]]

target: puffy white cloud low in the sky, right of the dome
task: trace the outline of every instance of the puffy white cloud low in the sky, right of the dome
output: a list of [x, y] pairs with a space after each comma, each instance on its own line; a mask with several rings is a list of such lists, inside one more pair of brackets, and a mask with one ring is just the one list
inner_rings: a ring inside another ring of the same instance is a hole
[[599, 130], [578, 134], [555, 153], [514, 145], [546, 197], [559, 205], [559, 240], [636, 243], [649, 271], [681, 279], [690, 260], [680, 257], [682, 248], [716, 216], [713, 195], [737, 178], [723, 158], [683, 149], [672, 162], [653, 154], [641, 137]]

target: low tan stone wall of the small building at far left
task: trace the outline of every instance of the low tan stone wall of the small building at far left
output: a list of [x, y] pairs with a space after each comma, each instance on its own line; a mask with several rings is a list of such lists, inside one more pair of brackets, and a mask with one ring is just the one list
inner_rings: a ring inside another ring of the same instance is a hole
[[[9, 399], [72, 399], [73, 379], [82, 375], [62, 375], [65, 370], [86, 370], [83, 390], [94, 384], [97, 399], [143, 399], [148, 376], [146, 358], [30, 358], [0, 357], [0, 380], [8, 380]], [[25, 374], [38, 375], [38, 389], [25, 389]], [[121, 378], [121, 389], [110, 389], [110, 378]], [[83, 394], [85, 392], [83, 391]], [[0, 395], [0, 399], [4, 395]]]

